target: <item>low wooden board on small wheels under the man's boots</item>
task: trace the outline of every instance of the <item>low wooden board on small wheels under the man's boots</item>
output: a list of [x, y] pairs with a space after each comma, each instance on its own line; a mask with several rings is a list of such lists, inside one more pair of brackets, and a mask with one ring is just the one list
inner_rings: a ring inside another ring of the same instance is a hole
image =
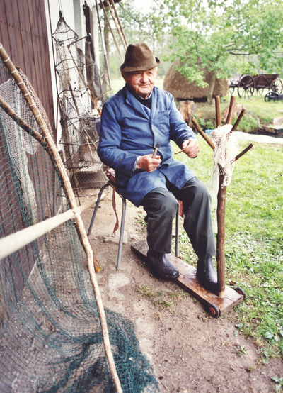
[[[132, 251], [144, 262], [147, 261], [146, 255], [148, 245], [146, 240], [141, 240], [131, 246]], [[216, 294], [204, 289], [196, 277], [197, 269], [175, 255], [168, 255], [168, 258], [173, 264], [178, 267], [180, 276], [173, 279], [172, 281], [183, 288], [185, 291], [192, 294], [200, 303], [204, 305], [208, 314], [217, 318], [223, 315], [226, 311], [229, 311], [237, 304], [241, 303], [245, 298], [245, 294], [242, 289], [232, 289], [230, 287], [225, 288], [225, 297], [220, 298]]]

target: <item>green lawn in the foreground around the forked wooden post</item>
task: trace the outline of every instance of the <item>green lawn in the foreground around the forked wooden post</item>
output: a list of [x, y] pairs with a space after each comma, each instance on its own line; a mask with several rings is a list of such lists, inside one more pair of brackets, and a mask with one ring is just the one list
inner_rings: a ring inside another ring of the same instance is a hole
[[[207, 184], [212, 149], [199, 139], [201, 153], [195, 160], [182, 153], [176, 157]], [[240, 143], [239, 151], [246, 145]], [[241, 287], [246, 299], [224, 317], [241, 321], [240, 330], [255, 338], [263, 362], [283, 355], [282, 154], [282, 145], [255, 143], [236, 162], [226, 192], [226, 240], [231, 239], [225, 245], [226, 284]], [[196, 257], [184, 234], [180, 250], [193, 264]]]

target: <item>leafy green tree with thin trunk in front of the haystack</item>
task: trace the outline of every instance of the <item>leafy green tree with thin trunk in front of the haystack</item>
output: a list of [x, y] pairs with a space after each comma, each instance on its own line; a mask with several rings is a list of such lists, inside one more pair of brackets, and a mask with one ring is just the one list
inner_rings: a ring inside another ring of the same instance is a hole
[[231, 56], [246, 60], [246, 72], [256, 62], [265, 72], [282, 70], [281, 1], [164, 0], [163, 28], [174, 37], [168, 58], [178, 60], [178, 71], [201, 87], [206, 85], [204, 68], [212, 72], [209, 103], [216, 77], [231, 74]]

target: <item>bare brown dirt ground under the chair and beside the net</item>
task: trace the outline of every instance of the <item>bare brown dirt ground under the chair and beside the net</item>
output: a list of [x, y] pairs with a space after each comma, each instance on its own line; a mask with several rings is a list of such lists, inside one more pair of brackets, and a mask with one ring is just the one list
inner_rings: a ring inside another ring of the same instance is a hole
[[[202, 304], [175, 283], [156, 279], [132, 252], [131, 245], [146, 238], [138, 216], [142, 208], [127, 203], [120, 270], [116, 270], [117, 236], [112, 235], [115, 214], [112, 190], [100, 202], [91, 245], [100, 263], [98, 284], [103, 304], [134, 322], [140, 348], [151, 361], [161, 392], [275, 392], [271, 377], [282, 377], [282, 359], [260, 364], [255, 343], [236, 335], [232, 309], [212, 318]], [[117, 196], [117, 210], [121, 200]], [[82, 217], [88, 230], [93, 209]], [[120, 214], [120, 213], [119, 213]], [[164, 309], [146, 293], [162, 292], [154, 299], [175, 299]]]

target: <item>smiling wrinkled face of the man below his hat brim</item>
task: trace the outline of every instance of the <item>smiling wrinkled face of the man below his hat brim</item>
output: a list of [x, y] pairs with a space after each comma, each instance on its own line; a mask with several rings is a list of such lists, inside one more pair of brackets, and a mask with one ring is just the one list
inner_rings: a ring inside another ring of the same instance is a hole
[[146, 99], [154, 89], [158, 70], [151, 68], [147, 71], [122, 72], [122, 77], [138, 96]]

